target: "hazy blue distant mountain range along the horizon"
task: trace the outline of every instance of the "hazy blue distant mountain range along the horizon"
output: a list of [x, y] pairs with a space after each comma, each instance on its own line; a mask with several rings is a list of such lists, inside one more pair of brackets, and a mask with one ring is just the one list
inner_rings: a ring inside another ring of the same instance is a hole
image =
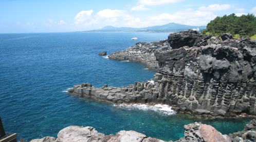
[[113, 27], [106, 26], [102, 29], [92, 30], [92, 31], [84, 31], [84, 32], [151, 32], [151, 33], [174, 33], [179, 31], [184, 31], [188, 29], [194, 29], [196, 31], [202, 31], [206, 29], [206, 26], [188, 26], [182, 25], [179, 23], [170, 22], [166, 25], [162, 26], [152, 26], [145, 28], [130, 28], [130, 27]]

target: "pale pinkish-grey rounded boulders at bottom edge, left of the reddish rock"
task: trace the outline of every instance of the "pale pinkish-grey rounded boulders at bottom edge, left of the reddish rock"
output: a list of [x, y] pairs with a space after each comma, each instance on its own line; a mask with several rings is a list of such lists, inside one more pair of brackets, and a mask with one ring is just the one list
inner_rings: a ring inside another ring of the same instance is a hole
[[164, 142], [163, 140], [147, 137], [136, 131], [119, 131], [116, 135], [99, 133], [93, 127], [69, 126], [58, 133], [58, 138], [43, 137], [30, 142]]

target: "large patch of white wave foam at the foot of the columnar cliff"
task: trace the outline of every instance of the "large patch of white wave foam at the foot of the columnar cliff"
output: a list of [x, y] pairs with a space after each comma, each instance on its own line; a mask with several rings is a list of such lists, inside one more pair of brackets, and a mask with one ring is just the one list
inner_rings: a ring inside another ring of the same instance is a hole
[[127, 105], [127, 104], [114, 104], [113, 106], [118, 107], [118, 108], [124, 108], [124, 109], [129, 109], [129, 110], [144, 110], [144, 111], [155, 111], [163, 115], [174, 115], [176, 112], [172, 110], [171, 106], [168, 105], [147, 105], [147, 104], [132, 104], [132, 105]]

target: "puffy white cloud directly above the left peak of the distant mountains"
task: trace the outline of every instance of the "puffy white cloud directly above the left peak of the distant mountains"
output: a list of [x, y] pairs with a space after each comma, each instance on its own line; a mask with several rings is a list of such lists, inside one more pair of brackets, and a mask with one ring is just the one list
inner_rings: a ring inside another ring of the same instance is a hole
[[120, 17], [125, 14], [125, 10], [111, 10], [111, 9], [104, 9], [97, 13], [98, 17], [100, 18], [113, 18], [113, 17]]

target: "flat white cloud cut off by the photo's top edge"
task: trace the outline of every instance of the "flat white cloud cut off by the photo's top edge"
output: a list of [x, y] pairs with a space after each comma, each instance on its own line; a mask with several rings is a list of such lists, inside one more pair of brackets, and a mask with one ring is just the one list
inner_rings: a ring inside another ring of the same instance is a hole
[[145, 6], [155, 6], [155, 5], [163, 5], [163, 4], [169, 4], [169, 3], [177, 3], [182, 1], [184, 0], [139, 0], [138, 3]]

